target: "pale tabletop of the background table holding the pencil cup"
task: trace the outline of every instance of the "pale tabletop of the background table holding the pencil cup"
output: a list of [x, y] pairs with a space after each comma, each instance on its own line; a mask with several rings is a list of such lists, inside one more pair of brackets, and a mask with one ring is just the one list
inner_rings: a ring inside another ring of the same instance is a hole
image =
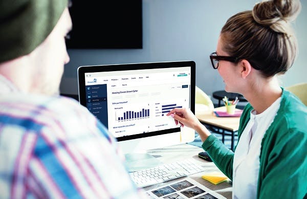
[[[239, 129], [240, 117], [216, 117], [212, 110], [206, 110], [202, 107], [203, 104], [195, 104], [195, 116], [204, 123], [225, 128], [230, 131]], [[214, 108], [215, 110], [225, 110], [225, 106]]]

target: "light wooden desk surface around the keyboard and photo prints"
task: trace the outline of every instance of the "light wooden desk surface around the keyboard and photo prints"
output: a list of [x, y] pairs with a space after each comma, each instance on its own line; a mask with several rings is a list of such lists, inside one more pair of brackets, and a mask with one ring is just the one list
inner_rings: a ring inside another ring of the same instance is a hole
[[[147, 153], [151, 154], [151, 156], [153, 157], [156, 157], [158, 160], [160, 160], [163, 163], [171, 163], [189, 158], [196, 160], [199, 165], [205, 168], [205, 171], [189, 175], [189, 177], [195, 180], [196, 182], [204, 185], [205, 187], [223, 195], [226, 198], [232, 198], [231, 181], [225, 181], [220, 184], [214, 185], [209, 181], [202, 179], [202, 175], [213, 171], [218, 171], [218, 168], [215, 166], [213, 162], [208, 162], [198, 157], [198, 153], [202, 151], [204, 151], [204, 149], [197, 146], [193, 146], [190, 144], [180, 144], [180, 145], [165, 147], [162, 149], [148, 150]], [[149, 187], [145, 187], [144, 189], [150, 190], [178, 180], [179, 179], [168, 181], [165, 183], [160, 183], [158, 185], [152, 185]]]

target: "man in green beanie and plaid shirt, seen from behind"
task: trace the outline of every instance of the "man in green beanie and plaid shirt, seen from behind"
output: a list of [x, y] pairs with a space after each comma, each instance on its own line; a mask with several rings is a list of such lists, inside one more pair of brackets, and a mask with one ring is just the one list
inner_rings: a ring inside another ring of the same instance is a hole
[[0, 3], [0, 198], [141, 198], [115, 139], [59, 97], [68, 1]]

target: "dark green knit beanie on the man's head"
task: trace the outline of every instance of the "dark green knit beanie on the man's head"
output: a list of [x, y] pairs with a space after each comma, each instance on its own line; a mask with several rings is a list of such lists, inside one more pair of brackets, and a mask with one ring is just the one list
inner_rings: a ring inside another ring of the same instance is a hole
[[0, 0], [0, 63], [31, 53], [67, 6], [68, 0]]

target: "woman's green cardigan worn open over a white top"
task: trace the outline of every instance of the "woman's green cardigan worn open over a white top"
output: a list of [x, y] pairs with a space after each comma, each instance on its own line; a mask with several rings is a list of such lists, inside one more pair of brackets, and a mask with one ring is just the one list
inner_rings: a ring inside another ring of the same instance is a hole
[[[240, 118], [238, 140], [250, 120], [247, 104]], [[234, 152], [215, 136], [202, 145], [215, 165], [232, 180]], [[283, 90], [280, 107], [261, 141], [257, 198], [307, 198], [307, 107]]]

